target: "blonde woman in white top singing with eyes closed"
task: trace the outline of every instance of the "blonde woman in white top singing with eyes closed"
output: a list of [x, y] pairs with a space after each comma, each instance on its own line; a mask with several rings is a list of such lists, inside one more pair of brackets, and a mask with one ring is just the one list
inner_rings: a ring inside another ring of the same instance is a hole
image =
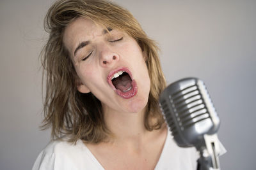
[[175, 145], [159, 110], [157, 46], [129, 11], [60, 0], [45, 29], [44, 127], [53, 140], [33, 169], [195, 169], [195, 150]]

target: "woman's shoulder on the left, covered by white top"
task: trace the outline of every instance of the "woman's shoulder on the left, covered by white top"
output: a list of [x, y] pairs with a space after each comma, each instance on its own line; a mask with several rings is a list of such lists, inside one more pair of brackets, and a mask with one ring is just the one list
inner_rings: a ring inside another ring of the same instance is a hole
[[32, 170], [91, 169], [93, 160], [83, 141], [76, 144], [63, 139], [51, 141], [36, 158]]

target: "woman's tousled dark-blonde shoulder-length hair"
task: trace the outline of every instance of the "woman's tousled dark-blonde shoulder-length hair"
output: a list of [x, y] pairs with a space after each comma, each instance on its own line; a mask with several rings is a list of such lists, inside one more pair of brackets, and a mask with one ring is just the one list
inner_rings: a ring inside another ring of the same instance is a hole
[[[65, 27], [77, 17], [90, 18], [106, 27], [120, 29], [136, 39], [147, 55], [150, 94], [145, 113], [145, 128], [159, 129], [163, 115], [158, 106], [160, 92], [166, 86], [156, 43], [148, 38], [138, 21], [124, 8], [102, 0], [56, 1], [45, 17], [49, 39], [41, 53], [46, 80], [44, 121], [42, 127], [52, 127], [52, 138], [71, 136], [70, 142], [83, 139], [88, 143], [104, 141], [111, 132], [106, 127], [102, 106], [92, 93], [81, 94], [76, 89], [77, 74], [63, 45]], [[152, 124], [152, 120], [154, 123]]]

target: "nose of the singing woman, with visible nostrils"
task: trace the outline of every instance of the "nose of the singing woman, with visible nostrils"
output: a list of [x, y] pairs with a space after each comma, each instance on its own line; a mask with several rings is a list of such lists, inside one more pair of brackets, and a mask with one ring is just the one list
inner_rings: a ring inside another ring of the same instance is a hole
[[120, 59], [110, 46], [102, 45], [100, 48], [100, 65], [102, 67], [111, 66]]

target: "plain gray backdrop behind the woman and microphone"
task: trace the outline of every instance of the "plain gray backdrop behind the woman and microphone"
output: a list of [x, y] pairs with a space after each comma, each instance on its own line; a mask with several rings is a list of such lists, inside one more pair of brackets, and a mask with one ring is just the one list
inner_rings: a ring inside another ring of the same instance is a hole
[[[161, 48], [168, 83], [205, 81], [228, 152], [222, 169], [255, 169], [256, 1], [116, 0]], [[0, 169], [31, 169], [48, 143], [38, 55], [52, 0], [0, 1]], [[170, 153], [172, 154], [172, 153]]]

